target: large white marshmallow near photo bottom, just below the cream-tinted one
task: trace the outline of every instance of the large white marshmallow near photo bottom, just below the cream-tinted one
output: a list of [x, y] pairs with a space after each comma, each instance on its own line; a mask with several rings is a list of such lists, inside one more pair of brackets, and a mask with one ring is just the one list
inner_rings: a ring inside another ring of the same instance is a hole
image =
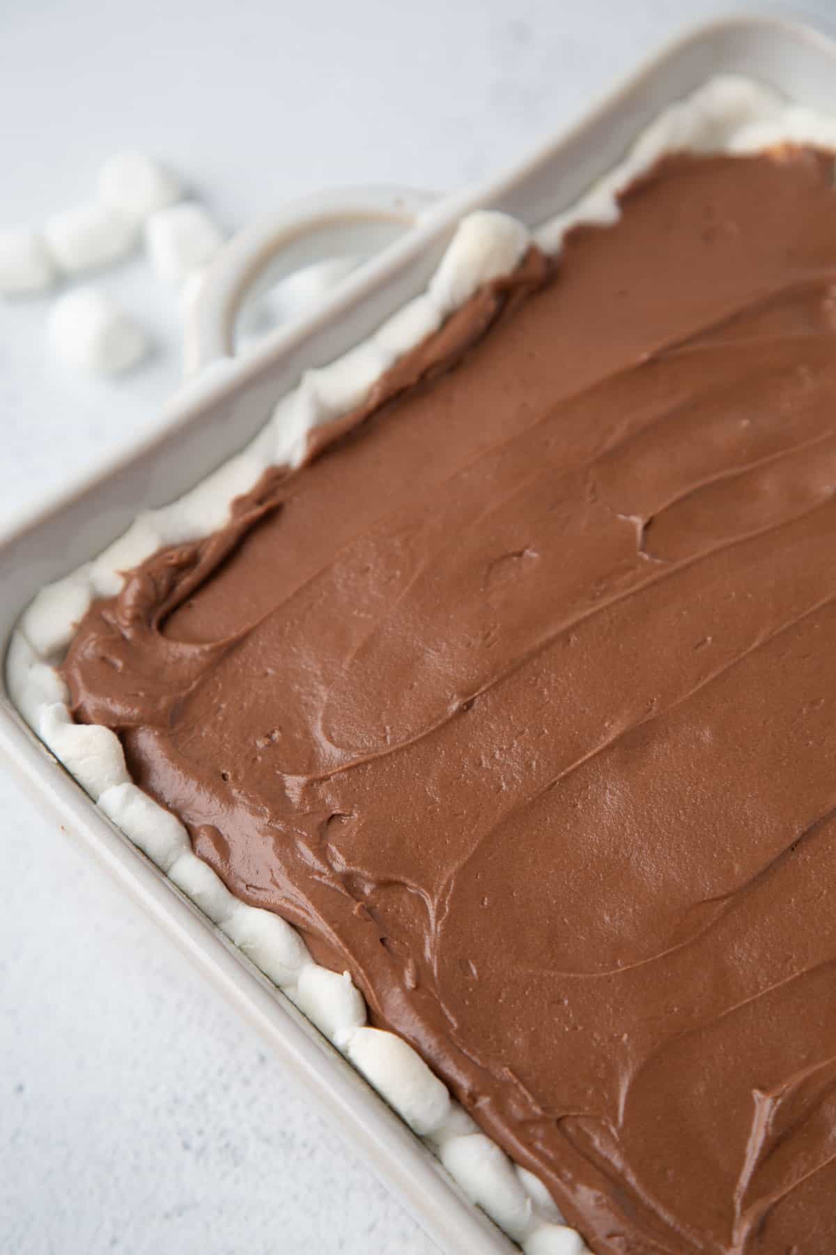
[[452, 1137], [441, 1147], [440, 1160], [468, 1197], [505, 1232], [521, 1240], [531, 1229], [531, 1200], [519, 1182], [514, 1165], [484, 1133]]

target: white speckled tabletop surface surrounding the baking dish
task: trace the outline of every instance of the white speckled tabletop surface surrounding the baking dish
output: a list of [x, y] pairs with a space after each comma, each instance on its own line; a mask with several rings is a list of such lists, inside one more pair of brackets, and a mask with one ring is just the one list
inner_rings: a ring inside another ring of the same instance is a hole
[[[683, 23], [726, 9], [0, 0], [0, 227], [89, 195], [124, 147], [167, 158], [228, 231], [322, 186], [459, 187], [546, 138]], [[157, 345], [118, 384], [49, 360], [48, 299], [0, 304], [0, 531], [159, 422], [177, 383], [174, 300], [140, 259], [102, 282]], [[0, 835], [5, 1255], [435, 1250], [3, 772]]]

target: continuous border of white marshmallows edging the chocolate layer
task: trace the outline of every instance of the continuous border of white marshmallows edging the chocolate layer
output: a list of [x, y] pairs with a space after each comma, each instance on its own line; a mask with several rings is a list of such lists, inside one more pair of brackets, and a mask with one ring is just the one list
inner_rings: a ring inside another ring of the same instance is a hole
[[556, 252], [572, 226], [614, 221], [618, 192], [664, 152], [748, 152], [787, 139], [836, 147], [836, 119], [786, 104], [747, 79], [722, 77], [666, 109], [624, 162], [572, 211], [545, 223], [533, 237], [506, 215], [471, 213], [459, 225], [424, 295], [342, 358], [308, 370], [242, 453], [179, 501], [138, 516], [94, 561], [43, 589], [19, 620], [9, 649], [6, 676], [13, 702], [59, 762], [113, 823], [351, 1060], [525, 1255], [580, 1255], [587, 1247], [562, 1224], [543, 1183], [479, 1132], [420, 1055], [397, 1035], [367, 1027], [362, 996], [350, 975], [317, 966], [291, 925], [271, 911], [238, 901], [192, 852], [183, 825], [130, 781], [114, 733], [73, 722], [69, 694], [55, 665], [93, 599], [119, 591], [119, 572], [164, 545], [216, 531], [227, 521], [234, 497], [248, 491], [268, 466], [298, 464], [313, 427], [361, 404], [399, 356], [436, 330], [483, 284], [511, 272], [531, 238]]

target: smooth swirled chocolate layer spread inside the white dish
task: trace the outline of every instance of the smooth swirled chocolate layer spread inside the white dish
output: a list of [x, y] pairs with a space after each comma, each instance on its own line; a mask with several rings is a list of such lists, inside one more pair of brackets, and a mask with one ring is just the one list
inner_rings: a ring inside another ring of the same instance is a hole
[[64, 666], [599, 1255], [836, 1250], [832, 176], [664, 161]]

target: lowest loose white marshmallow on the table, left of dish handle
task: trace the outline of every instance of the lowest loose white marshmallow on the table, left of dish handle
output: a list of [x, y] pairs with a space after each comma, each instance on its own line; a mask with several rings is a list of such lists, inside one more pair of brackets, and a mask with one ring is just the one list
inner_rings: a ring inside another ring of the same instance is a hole
[[144, 330], [99, 287], [76, 287], [49, 312], [53, 351], [65, 365], [88, 374], [113, 375], [137, 365], [148, 353]]

